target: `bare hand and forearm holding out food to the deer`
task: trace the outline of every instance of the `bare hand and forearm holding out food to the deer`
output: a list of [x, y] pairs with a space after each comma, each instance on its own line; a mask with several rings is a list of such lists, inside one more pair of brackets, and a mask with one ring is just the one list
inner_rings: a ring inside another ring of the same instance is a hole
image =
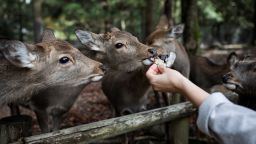
[[149, 68], [146, 76], [154, 90], [181, 93], [197, 107], [209, 96], [209, 93], [173, 69], [159, 67], [154, 64]]

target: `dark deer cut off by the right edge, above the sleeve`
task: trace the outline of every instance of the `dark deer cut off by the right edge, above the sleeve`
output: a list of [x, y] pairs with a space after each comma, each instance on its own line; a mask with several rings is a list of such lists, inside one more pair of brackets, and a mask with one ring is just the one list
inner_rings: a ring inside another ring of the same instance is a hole
[[230, 58], [230, 71], [223, 75], [223, 85], [236, 92], [238, 104], [256, 110], [256, 58], [255, 56], [239, 57], [235, 53]]

